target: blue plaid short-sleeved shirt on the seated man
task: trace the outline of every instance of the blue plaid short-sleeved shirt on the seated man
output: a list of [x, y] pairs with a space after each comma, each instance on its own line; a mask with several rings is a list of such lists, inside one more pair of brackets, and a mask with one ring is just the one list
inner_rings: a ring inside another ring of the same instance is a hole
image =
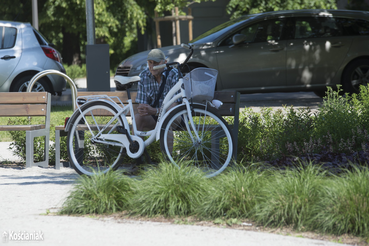
[[[142, 71], [139, 74], [139, 77], [141, 77], [141, 81], [138, 82], [137, 96], [135, 102], [146, 103], [152, 106], [154, 105], [156, 97], [158, 96], [159, 88], [164, 80], [165, 73], [162, 74], [162, 80], [160, 84], [156, 82], [154, 76], [150, 73], [149, 68], [146, 68], [144, 71]], [[179, 79], [178, 70], [176, 68], [173, 68], [172, 70], [169, 71], [168, 77], [166, 78], [163, 93], [156, 107], [159, 108], [162, 105], [166, 94], [168, 94], [169, 90], [178, 82], [178, 79]], [[176, 94], [178, 93], [179, 91], [176, 92]], [[177, 100], [177, 102], [180, 101], [181, 99]]]

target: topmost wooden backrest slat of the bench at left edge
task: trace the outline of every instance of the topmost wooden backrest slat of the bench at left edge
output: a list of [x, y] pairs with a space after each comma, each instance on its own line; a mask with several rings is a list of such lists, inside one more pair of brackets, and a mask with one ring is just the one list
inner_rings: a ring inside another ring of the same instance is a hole
[[0, 104], [46, 104], [48, 92], [1, 92]]

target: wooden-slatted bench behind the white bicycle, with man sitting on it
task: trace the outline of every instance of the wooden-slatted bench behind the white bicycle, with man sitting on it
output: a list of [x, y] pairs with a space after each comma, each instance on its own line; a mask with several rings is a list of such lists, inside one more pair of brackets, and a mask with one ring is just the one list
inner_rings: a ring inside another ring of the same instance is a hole
[[[108, 96], [117, 96], [123, 103], [128, 100], [127, 92], [78, 92], [78, 96], [88, 96], [88, 95], [108, 95]], [[131, 92], [132, 101], [135, 100], [137, 92]], [[237, 91], [215, 91], [214, 99], [223, 102], [223, 105], [220, 109], [215, 109], [221, 116], [233, 116], [234, 124], [230, 125], [232, 134], [235, 139], [234, 149], [236, 158], [237, 155], [237, 139], [238, 139], [238, 123], [239, 123], [239, 98], [240, 93]], [[114, 100], [119, 103], [117, 99]], [[133, 102], [134, 112], [137, 112], [138, 103]], [[127, 116], [131, 116], [128, 113]], [[66, 136], [67, 132], [65, 132], [64, 126], [56, 126], [55, 127], [55, 168], [60, 169], [61, 166], [69, 166], [69, 163], [60, 162], [60, 137]]]

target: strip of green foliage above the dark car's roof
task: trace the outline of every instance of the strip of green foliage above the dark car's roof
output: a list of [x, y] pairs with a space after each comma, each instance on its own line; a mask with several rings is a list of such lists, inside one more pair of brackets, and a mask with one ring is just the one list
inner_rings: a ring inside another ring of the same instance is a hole
[[244, 14], [300, 9], [337, 9], [337, 4], [334, 0], [230, 0], [227, 5], [227, 13], [231, 14], [231, 19]]

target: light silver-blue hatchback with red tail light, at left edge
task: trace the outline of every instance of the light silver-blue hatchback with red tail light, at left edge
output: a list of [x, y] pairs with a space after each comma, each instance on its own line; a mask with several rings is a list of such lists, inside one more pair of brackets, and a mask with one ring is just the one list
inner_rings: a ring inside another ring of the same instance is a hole
[[[40, 71], [65, 73], [60, 53], [30, 23], [0, 21], [0, 92], [26, 91]], [[66, 80], [47, 75], [36, 81], [32, 91], [61, 95]]]

